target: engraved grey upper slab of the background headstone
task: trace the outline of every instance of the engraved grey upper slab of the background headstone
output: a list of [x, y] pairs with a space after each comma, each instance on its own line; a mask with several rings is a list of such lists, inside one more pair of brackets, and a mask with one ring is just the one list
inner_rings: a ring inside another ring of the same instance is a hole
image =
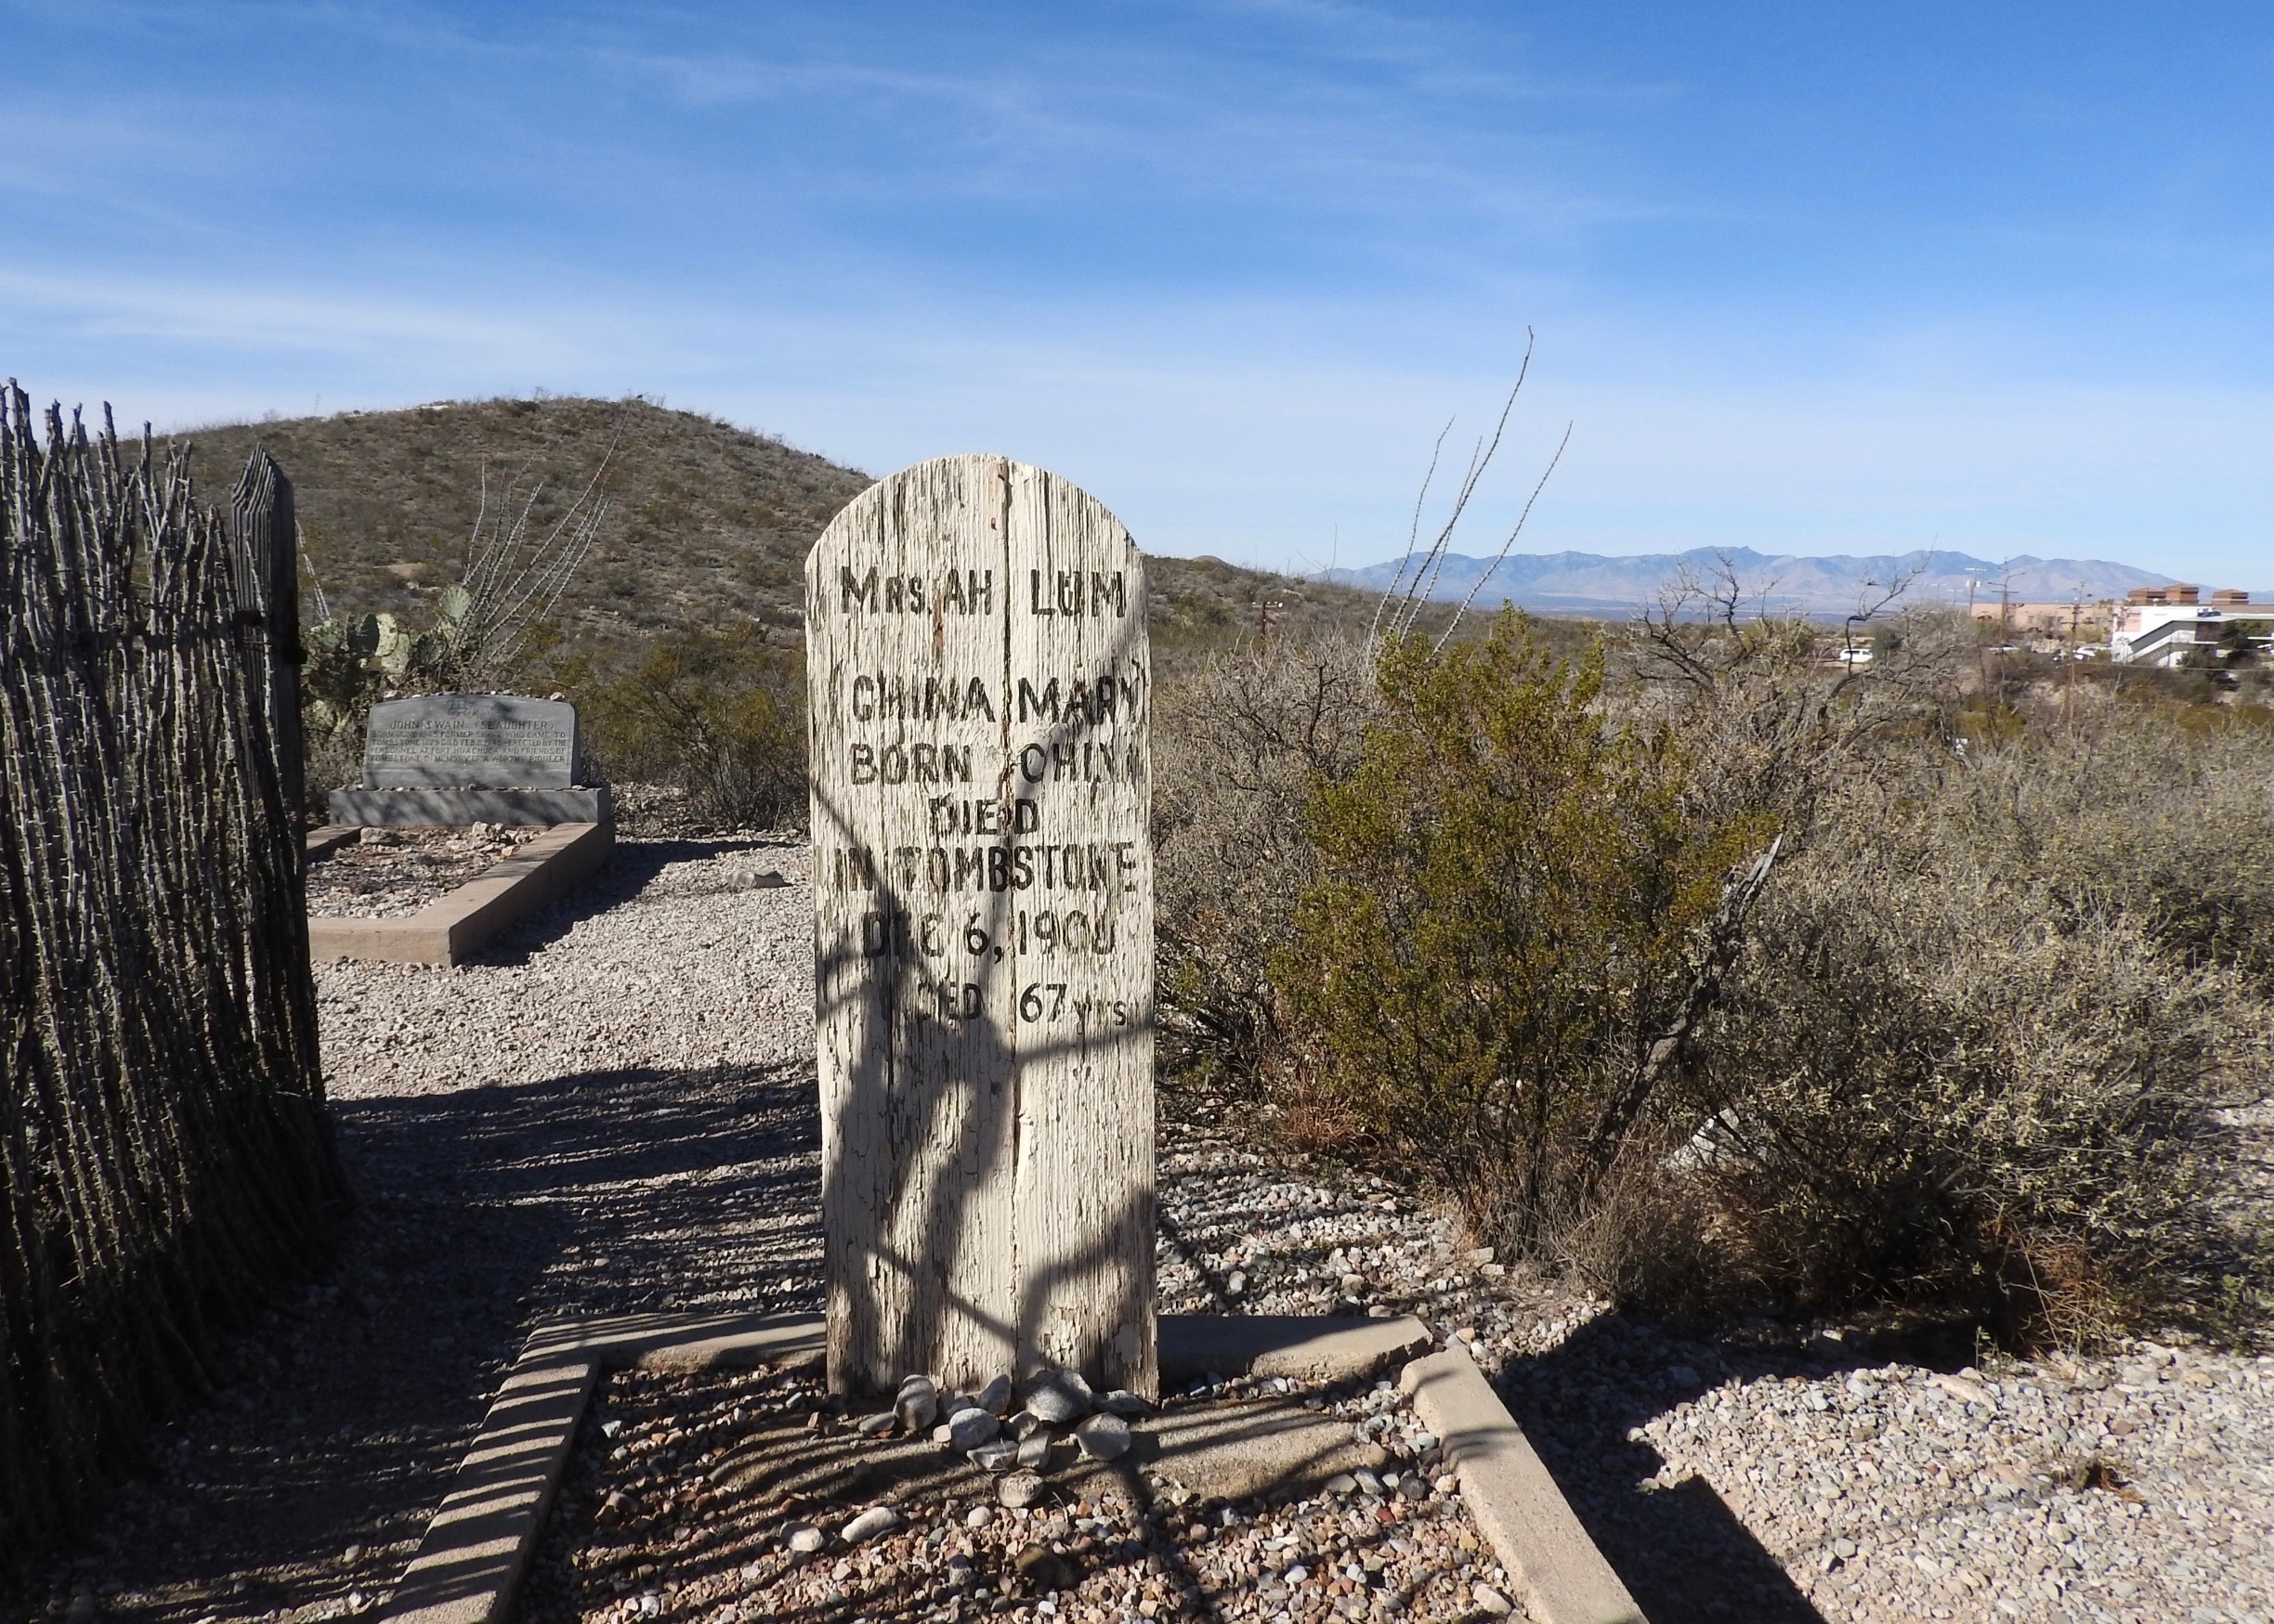
[[566, 789], [575, 705], [512, 694], [428, 694], [371, 707], [368, 789]]

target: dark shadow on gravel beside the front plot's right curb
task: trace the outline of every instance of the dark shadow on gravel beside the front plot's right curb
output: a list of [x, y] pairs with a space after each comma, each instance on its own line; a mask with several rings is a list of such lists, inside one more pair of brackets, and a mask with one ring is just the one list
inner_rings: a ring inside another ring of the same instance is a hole
[[1644, 1490], [1665, 1460], [1626, 1442], [1628, 1431], [1731, 1376], [1803, 1369], [1826, 1367], [1733, 1342], [1669, 1340], [1603, 1315], [1555, 1351], [1510, 1362], [1496, 1385], [1651, 1624], [1824, 1624], [1712, 1483], [1690, 1476]]

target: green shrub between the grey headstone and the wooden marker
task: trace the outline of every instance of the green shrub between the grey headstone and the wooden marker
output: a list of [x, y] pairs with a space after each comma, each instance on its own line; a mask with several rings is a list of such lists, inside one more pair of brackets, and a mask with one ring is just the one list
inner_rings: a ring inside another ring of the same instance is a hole
[[609, 778], [675, 785], [700, 817], [773, 828], [805, 814], [805, 662], [757, 625], [684, 628], [619, 673], [564, 666]]

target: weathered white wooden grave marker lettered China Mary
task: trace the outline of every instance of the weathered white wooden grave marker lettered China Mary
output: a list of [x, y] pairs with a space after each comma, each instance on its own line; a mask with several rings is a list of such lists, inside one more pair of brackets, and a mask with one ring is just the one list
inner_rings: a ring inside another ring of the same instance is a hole
[[1157, 1390], [1144, 562], [941, 457], [805, 562], [828, 1358]]

